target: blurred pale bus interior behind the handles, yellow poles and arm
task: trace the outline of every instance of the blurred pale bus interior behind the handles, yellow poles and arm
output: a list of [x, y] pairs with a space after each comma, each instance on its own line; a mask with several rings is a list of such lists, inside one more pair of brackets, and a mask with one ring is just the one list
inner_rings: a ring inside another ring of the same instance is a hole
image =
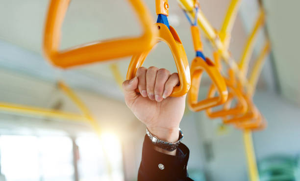
[[[155, 19], [155, 1], [145, 2]], [[222, 26], [229, 2], [200, 0], [204, 15], [216, 29]], [[296, 181], [300, 180], [300, 1], [261, 3], [266, 26], [259, 33], [251, 62], [268, 35], [272, 52], [254, 96], [268, 127], [253, 132], [253, 144], [261, 181]], [[0, 0], [0, 104], [79, 114], [58, 86], [63, 80], [99, 122], [102, 141], [85, 123], [0, 108], [0, 181], [136, 181], [145, 126], [126, 107], [112, 73], [113, 63], [125, 79], [130, 57], [68, 70], [55, 68], [42, 52], [48, 4], [49, 0]], [[190, 25], [177, 2], [169, 0], [169, 4], [170, 25], [175, 27], [191, 62], [195, 52]], [[236, 60], [258, 12], [257, 0], [242, 0], [229, 48]], [[63, 23], [61, 49], [139, 33], [139, 23], [126, 0], [72, 0]], [[211, 44], [204, 38], [203, 43], [204, 53], [211, 57]], [[163, 43], [150, 53], [144, 66], [176, 72], [172, 53]], [[210, 85], [207, 76], [204, 78], [200, 96], [207, 94]], [[188, 108], [180, 127], [183, 143], [191, 152], [188, 172], [192, 179], [248, 180], [241, 130]]]

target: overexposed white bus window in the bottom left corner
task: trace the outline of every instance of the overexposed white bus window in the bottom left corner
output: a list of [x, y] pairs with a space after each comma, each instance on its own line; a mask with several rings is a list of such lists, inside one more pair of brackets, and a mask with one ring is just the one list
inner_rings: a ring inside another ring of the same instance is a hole
[[72, 140], [66, 136], [0, 136], [7, 181], [74, 181]]

